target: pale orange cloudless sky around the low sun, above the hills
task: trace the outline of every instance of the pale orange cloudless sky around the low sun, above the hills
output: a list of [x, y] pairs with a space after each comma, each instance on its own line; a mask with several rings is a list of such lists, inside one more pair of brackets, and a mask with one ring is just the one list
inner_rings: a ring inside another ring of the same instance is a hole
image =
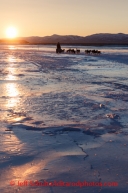
[[128, 0], [0, 0], [0, 38], [17, 36], [128, 34]]

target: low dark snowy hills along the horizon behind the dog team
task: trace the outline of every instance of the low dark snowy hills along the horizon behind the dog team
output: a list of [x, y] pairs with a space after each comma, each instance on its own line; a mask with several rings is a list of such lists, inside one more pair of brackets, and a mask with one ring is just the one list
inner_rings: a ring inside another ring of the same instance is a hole
[[100, 33], [93, 34], [90, 36], [77, 36], [77, 35], [57, 35], [52, 36], [32, 36], [21, 38], [29, 43], [119, 43], [119, 44], [128, 44], [128, 34], [109, 34], [109, 33]]

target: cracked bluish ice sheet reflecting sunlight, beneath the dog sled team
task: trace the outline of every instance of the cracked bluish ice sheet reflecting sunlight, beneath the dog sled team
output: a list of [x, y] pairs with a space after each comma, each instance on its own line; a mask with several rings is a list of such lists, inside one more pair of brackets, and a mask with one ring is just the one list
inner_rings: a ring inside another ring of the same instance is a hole
[[0, 46], [1, 192], [28, 192], [9, 184], [25, 179], [118, 181], [114, 190], [91, 192], [127, 189], [128, 48], [96, 48], [100, 56], [84, 49], [72, 55], [54, 46]]

